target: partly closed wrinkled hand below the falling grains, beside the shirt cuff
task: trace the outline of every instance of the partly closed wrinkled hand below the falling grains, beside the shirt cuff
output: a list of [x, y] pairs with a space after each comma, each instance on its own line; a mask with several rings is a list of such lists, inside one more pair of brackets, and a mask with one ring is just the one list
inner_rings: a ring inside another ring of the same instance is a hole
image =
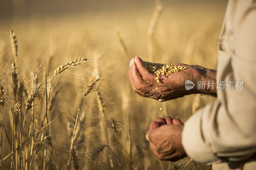
[[183, 123], [169, 116], [160, 117], [150, 124], [146, 139], [159, 160], [175, 162], [187, 156], [181, 144], [182, 129]]

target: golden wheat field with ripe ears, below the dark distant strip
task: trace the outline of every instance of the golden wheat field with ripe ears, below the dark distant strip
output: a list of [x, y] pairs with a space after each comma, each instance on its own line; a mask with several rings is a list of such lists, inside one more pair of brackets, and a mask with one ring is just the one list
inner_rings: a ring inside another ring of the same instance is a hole
[[134, 56], [217, 69], [226, 1], [192, 2], [1, 19], [1, 168], [211, 169], [157, 160], [145, 134], [156, 118], [186, 122], [215, 98], [162, 103], [128, 78]]

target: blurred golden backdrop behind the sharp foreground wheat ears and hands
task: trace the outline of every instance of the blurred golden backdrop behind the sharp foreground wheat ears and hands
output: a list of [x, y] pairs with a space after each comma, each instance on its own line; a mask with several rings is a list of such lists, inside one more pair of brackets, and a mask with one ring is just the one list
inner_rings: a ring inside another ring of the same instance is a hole
[[[76, 58], [88, 59], [77, 68], [63, 71], [58, 83], [56, 78], [53, 80], [59, 93], [53, 102], [50, 121], [64, 114], [50, 126], [54, 149], [48, 151], [52, 158], [47, 168], [66, 169], [83, 87], [100, 73], [104, 79], [97, 90], [104, 101], [106, 119], [102, 119], [95, 92], [88, 94], [81, 109], [86, 123], [79, 132], [81, 140], [75, 144], [79, 169], [211, 169], [190, 158], [175, 163], [158, 161], [150, 151], [145, 134], [156, 118], [169, 115], [186, 122], [196, 110], [215, 98], [190, 95], [161, 103], [140, 97], [130, 87], [128, 68], [131, 58], [139, 56], [149, 62], [197, 64], [217, 69], [217, 40], [226, 7], [227, 0], [1, 0], [0, 73], [6, 89], [5, 101], [12, 98], [11, 29], [18, 41], [16, 65], [20, 79], [25, 80], [28, 91], [31, 72], [37, 72], [42, 81], [40, 95], [35, 100], [35, 105], [40, 106], [39, 122], [45, 112], [44, 101], [40, 101], [40, 97], [45, 99], [45, 60], [49, 89], [58, 66]], [[164, 107], [162, 111], [161, 107]], [[4, 126], [12, 134], [8, 102], [4, 116]], [[31, 114], [27, 119], [31, 120]], [[26, 121], [28, 127], [30, 123]], [[104, 135], [102, 124], [108, 135]], [[40, 124], [35, 122], [35, 126], [38, 130]], [[28, 134], [28, 129], [24, 133]], [[24, 139], [26, 137], [28, 135]], [[92, 159], [97, 148], [106, 144], [106, 138], [111, 152], [105, 149]], [[8, 145], [3, 134], [2, 158], [11, 152]], [[43, 160], [42, 151], [33, 161], [32, 169], [42, 169]], [[10, 168], [10, 164], [8, 158], [2, 167]]]

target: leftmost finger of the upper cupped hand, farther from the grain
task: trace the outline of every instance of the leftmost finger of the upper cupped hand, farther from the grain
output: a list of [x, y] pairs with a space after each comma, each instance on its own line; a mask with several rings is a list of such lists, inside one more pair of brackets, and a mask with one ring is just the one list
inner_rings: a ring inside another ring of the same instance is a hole
[[132, 82], [133, 82], [135, 89], [141, 90], [143, 87], [148, 85], [148, 83], [142, 79], [142, 76], [141, 76], [139, 70], [137, 69], [135, 62], [130, 67], [130, 71], [131, 71]]

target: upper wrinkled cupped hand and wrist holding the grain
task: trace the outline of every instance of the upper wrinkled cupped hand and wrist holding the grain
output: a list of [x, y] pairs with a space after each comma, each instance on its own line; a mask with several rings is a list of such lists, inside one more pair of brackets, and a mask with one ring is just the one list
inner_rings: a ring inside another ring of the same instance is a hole
[[[201, 89], [195, 87], [191, 90], [185, 89], [186, 80], [190, 80], [197, 84], [198, 81], [216, 81], [216, 71], [205, 69], [198, 65], [176, 64], [185, 66], [187, 69], [170, 74], [169, 76], [160, 75], [159, 83], [156, 82], [156, 75], [151, 73], [144, 65], [139, 57], [132, 58], [129, 68], [129, 79], [134, 92], [141, 96], [149, 97], [162, 101], [172, 100], [183, 97], [188, 94], [205, 93], [216, 95], [214, 90]], [[156, 90], [156, 88], [158, 88]]]

